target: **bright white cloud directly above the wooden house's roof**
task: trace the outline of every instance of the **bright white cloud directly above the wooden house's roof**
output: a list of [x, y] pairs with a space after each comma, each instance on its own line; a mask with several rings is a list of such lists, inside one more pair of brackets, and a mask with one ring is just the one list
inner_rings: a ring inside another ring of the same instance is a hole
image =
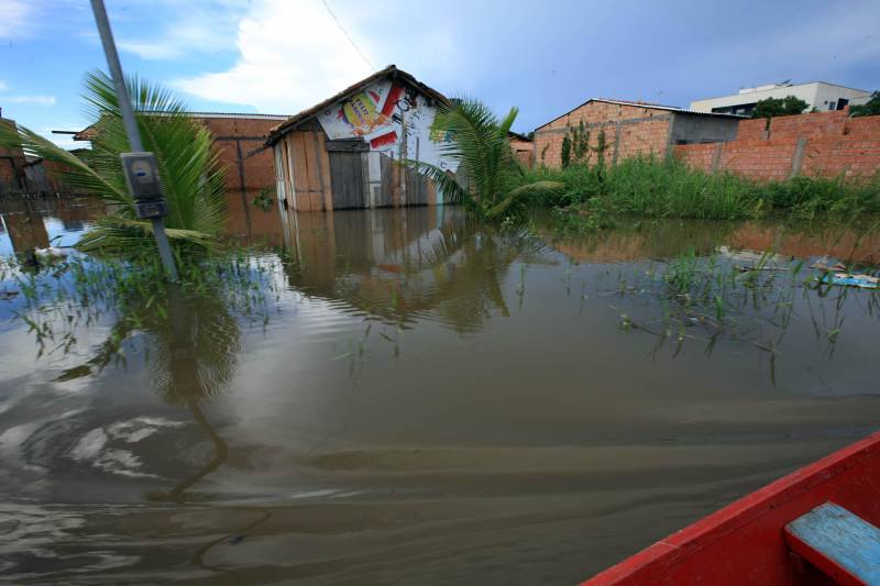
[[[343, 14], [337, 15], [345, 22]], [[364, 38], [353, 30], [349, 34], [371, 55]], [[240, 56], [229, 70], [173, 85], [208, 100], [294, 113], [371, 73], [320, 0], [255, 3], [239, 23], [235, 46]]]

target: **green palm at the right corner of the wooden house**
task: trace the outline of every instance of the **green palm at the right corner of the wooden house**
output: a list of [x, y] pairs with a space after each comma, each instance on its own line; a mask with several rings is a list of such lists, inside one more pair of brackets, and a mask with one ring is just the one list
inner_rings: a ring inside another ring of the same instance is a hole
[[508, 139], [518, 112], [512, 108], [498, 120], [476, 100], [460, 99], [440, 106], [433, 130], [453, 137], [443, 154], [459, 162], [459, 176], [464, 181], [430, 163], [405, 159], [403, 164], [426, 175], [447, 197], [464, 202], [483, 219], [517, 215], [530, 199], [562, 187], [547, 181], [522, 181], [525, 169], [514, 156]]

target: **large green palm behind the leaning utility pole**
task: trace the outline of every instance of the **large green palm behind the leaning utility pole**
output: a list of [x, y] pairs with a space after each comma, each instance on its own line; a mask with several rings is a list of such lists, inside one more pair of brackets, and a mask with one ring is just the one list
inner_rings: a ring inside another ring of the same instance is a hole
[[[211, 135], [167, 90], [136, 77], [127, 80], [144, 148], [156, 155], [168, 213], [168, 239], [179, 252], [218, 245], [223, 226], [223, 169], [211, 148]], [[120, 154], [131, 151], [112, 80], [103, 73], [86, 76], [84, 99], [96, 136], [88, 155], [77, 156], [35, 132], [0, 126], [0, 145], [19, 144], [25, 152], [61, 163], [63, 180], [95, 194], [116, 210], [78, 243], [89, 252], [155, 251], [152, 226], [139, 220], [129, 195]]]

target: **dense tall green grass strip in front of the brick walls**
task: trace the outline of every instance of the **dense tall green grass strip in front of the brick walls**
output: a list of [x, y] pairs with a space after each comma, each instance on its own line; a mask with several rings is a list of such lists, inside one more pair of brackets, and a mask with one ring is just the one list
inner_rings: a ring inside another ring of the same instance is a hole
[[774, 212], [794, 219], [839, 220], [880, 212], [880, 175], [865, 181], [795, 177], [758, 183], [730, 173], [704, 173], [673, 158], [634, 157], [609, 167], [538, 169], [530, 172], [527, 180], [562, 183], [564, 189], [541, 202], [582, 218], [595, 217], [596, 210], [612, 215], [704, 220]]

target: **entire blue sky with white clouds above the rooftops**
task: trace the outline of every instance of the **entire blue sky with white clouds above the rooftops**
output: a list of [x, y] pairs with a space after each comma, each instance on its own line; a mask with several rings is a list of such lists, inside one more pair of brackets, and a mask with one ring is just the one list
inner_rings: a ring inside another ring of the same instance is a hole
[[[591, 97], [686, 107], [784, 79], [880, 88], [877, 0], [327, 0], [366, 58], [322, 0], [106, 1], [125, 71], [194, 110], [295, 113], [389, 63], [518, 106], [522, 132]], [[84, 126], [82, 75], [106, 66], [89, 2], [0, 3], [3, 115], [44, 134]]]

